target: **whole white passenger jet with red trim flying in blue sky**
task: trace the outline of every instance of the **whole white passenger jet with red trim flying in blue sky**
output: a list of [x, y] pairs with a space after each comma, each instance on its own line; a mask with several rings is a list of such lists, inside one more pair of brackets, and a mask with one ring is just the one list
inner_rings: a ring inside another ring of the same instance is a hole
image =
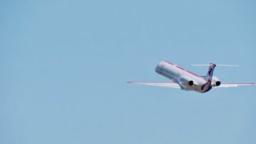
[[158, 63], [155, 72], [170, 78], [173, 82], [128, 82], [149, 86], [166, 86], [180, 90], [194, 90], [198, 93], [206, 93], [212, 87], [232, 87], [232, 86], [251, 86], [256, 83], [222, 83], [216, 76], [214, 76], [215, 66], [237, 66], [237, 65], [216, 65], [214, 63], [203, 65], [190, 65], [190, 66], [209, 66], [208, 72], [205, 76], [199, 76], [189, 70], [175, 65], [171, 62], [162, 61]]

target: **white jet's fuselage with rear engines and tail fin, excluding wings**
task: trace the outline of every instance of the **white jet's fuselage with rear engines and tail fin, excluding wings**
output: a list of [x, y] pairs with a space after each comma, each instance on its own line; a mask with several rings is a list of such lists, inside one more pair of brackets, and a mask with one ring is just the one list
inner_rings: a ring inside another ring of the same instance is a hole
[[[155, 71], [166, 78], [170, 78], [173, 82], [178, 83], [182, 90], [195, 90], [199, 93], [205, 93], [209, 91], [212, 86], [215, 86], [216, 82], [218, 83], [217, 85], [220, 85], [218, 78], [214, 76], [207, 79], [206, 76], [198, 76], [188, 70], [184, 70], [180, 66], [166, 61], [160, 62], [155, 68]], [[209, 70], [208, 74], [212, 72], [213, 70]]]

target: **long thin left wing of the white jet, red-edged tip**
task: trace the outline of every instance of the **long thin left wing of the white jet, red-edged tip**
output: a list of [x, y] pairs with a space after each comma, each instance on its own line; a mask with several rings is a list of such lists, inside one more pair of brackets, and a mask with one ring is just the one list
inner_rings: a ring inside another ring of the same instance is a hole
[[140, 85], [149, 85], [149, 86], [164, 86], [164, 87], [171, 87], [175, 89], [182, 89], [181, 86], [178, 85], [176, 82], [128, 82]]

